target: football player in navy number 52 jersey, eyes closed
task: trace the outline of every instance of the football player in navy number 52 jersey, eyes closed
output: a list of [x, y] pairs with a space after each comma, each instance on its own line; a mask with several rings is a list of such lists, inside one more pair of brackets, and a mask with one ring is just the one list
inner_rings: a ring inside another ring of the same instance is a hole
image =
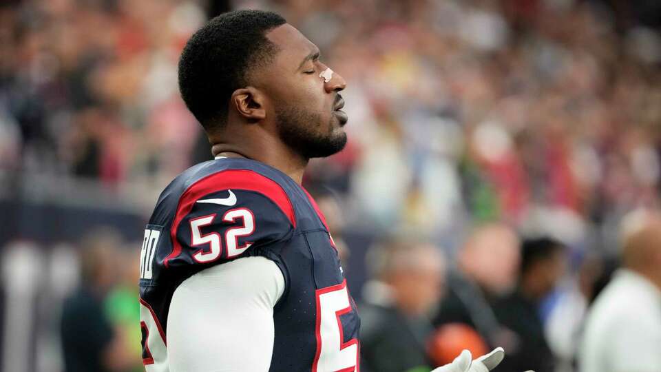
[[216, 159], [175, 178], [145, 229], [147, 371], [359, 371], [355, 304], [301, 187], [310, 158], [346, 144], [345, 85], [273, 12], [222, 14], [188, 41], [180, 91]]

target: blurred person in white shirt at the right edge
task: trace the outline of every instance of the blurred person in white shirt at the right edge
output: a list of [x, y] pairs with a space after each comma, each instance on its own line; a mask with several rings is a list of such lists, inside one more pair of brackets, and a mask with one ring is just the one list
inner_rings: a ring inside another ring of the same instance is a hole
[[591, 307], [580, 371], [661, 370], [661, 214], [639, 210], [622, 223], [622, 269]]

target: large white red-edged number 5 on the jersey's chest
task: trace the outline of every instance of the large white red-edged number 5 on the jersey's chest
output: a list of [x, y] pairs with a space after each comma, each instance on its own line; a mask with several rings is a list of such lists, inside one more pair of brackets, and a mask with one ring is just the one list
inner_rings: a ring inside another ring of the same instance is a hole
[[317, 290], [317, 354], [313, 372], [353, 372], [358, 365], [358, 340], [343, 342], [339, 317], [352, 311], [346, 281]]

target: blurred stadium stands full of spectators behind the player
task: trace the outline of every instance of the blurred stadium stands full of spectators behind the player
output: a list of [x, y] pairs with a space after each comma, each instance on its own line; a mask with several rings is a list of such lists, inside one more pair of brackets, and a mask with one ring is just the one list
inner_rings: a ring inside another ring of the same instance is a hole
[[136, 362], [117, 370], [140, 370], [143, 225], [171, 178], [211, 158], [178, 55], [235, 8], [280, 12], [348, 81], [348, 147], [304, 185], [328, 197], [355, 298], [368, 248], [397, 231], [449, 267], [485, 223], [550, 236], [567, 269], [540, 318], [556, 371], [574, 371], [581, 289], [616, 260], [622, 216], [661, 201], [659, 1], [2, 1], [2, 370], [62, 371], [63, 298], [100, 272]]

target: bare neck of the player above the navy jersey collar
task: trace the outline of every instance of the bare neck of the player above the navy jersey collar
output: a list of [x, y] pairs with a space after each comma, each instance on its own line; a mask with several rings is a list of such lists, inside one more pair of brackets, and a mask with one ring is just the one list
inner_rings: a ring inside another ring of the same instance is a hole
[[229, 143], [215, 143], [211, 147], [213, 156], [225, 156], [227, 158], [248, 158], [270, 165], [280, 172], [286, 174], [301, 185], [305, 167], [308, 159], [301, 158], [284, 146], [238, 146]]

